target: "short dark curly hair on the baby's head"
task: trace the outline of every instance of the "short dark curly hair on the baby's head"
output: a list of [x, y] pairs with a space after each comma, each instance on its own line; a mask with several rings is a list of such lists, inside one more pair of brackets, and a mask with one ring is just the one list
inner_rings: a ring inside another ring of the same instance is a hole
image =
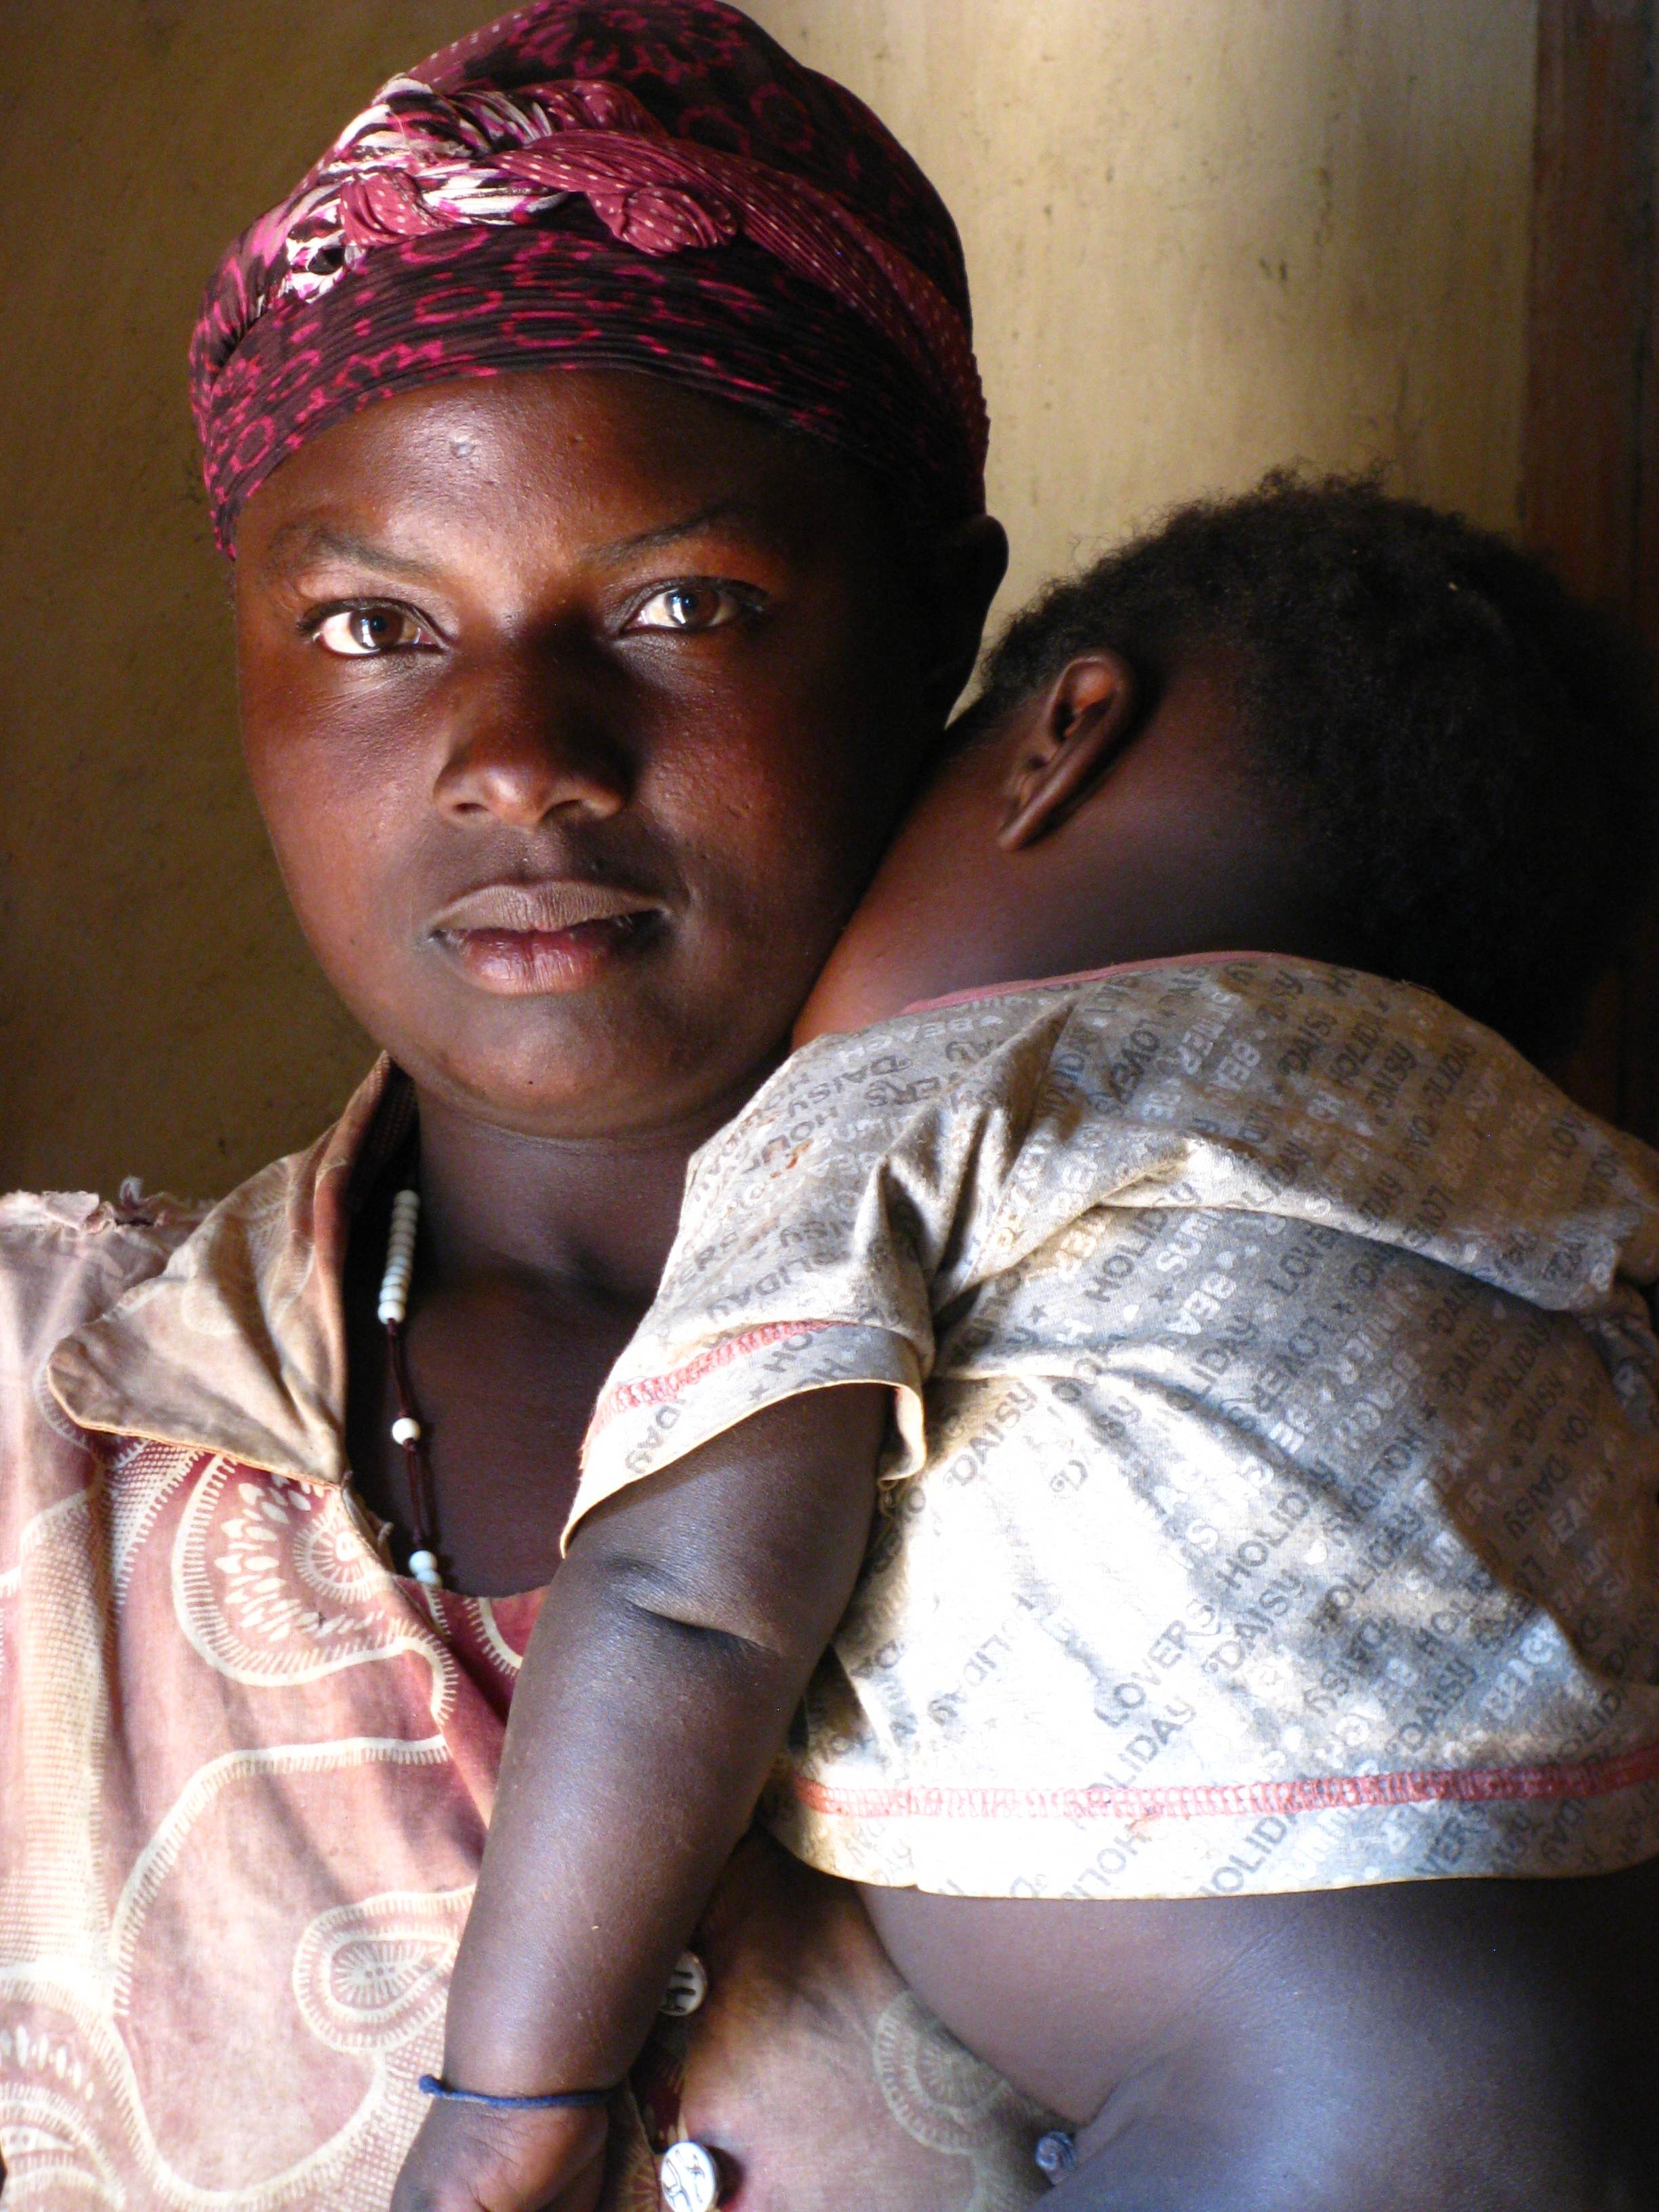
[[1535, 1060], [1573, 1044], [1652, 841], [1659, 726], [1619, 624], [1458, 515], [1274, 471], [1051, 584], [973, 728], [1102, 646], [1152, 695], [1199, 650], [1237, 668], [1254, 765], [1358, 964]]

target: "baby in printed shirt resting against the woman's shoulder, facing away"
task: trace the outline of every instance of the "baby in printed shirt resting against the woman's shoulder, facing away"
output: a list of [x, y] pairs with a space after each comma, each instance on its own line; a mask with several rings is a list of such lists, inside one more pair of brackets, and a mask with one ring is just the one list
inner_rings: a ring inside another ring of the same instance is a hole
[[1068, 2205], [1659, 2203], [1659, 1159], [1522, 1057], [1650, 734], [1367, 484], [1013, 626], [595, 1411], [398, 2205], [597, 2201], [757, 1805]]

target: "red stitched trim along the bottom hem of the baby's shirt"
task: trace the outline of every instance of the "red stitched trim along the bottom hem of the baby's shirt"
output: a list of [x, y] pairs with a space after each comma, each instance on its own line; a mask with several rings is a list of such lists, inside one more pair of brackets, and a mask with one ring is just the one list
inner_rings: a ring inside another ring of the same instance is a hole
[[1427, 1767], [1402, 1774], [1307, 1774], [1285, 1783], [1197, 1783], [1164, 1790], [832, 1790], [796, 1776], [810, 1812], [847, 1820], [1210, 1820], [1367, 1805], [1590, 1798], [1659, 1778], [1659, 1743], [1617, 1759], [1537, 1767]]

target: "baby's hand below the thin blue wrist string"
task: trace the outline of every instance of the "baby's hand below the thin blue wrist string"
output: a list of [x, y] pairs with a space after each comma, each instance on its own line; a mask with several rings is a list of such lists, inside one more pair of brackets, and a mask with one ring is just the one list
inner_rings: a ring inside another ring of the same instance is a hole
[[593, 2212], [606, 2130], [602, 2108], [495, 2112], [438, 2101], [403, 2161], [392, 2212]]

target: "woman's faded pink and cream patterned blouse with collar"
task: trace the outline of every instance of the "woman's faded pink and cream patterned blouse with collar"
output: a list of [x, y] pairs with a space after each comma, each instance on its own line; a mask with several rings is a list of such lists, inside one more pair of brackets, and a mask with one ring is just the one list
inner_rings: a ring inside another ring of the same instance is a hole
[[[438, 2064], [535, 1595], [434, 1604], [345, 1464], [349, 1172], [380, 1068], [212, 1210], [0, 1201], [0, 2159], [7, 2212], [385, 2212]], [[734, 2205], [1035, 2199], [1040, 2117], [752, 1838], [708, 2004], [617, 2108]]]

